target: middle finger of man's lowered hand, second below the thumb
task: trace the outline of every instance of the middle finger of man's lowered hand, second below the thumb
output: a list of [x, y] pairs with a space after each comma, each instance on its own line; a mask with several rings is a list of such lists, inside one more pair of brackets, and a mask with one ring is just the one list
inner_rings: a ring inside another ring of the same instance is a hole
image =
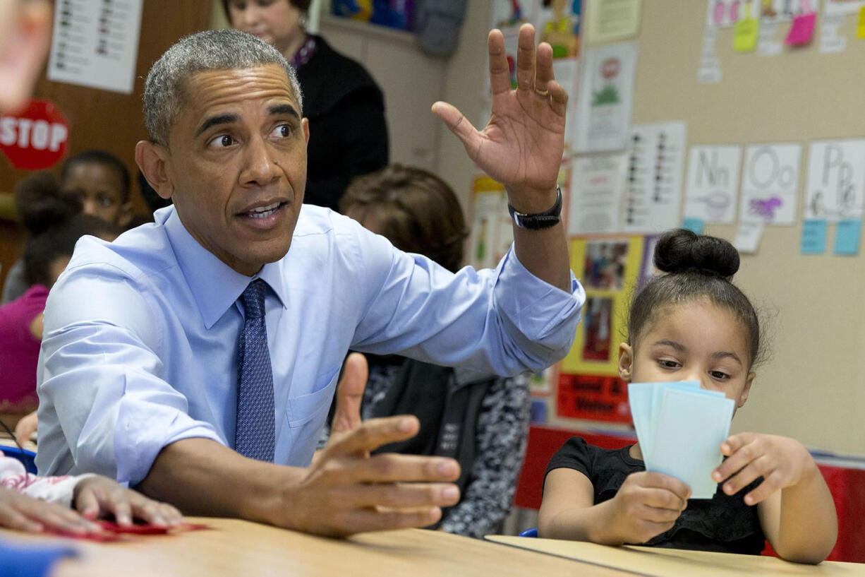
[[334, 483], [449, 483], [459, 477], [459, 464], [447, 457], [422, 457], [384, 453], [368, 458], [336, 458], [327, 466], [325, 475]]

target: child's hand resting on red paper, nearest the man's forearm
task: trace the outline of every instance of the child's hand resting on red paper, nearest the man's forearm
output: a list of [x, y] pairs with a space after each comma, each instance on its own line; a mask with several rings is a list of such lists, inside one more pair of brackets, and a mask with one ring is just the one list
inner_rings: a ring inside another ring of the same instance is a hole
[[114, 515], [121, 526], [131, 525], [133, 517], [160, 527], [183, 523], [183, 515], [168, 503], [153, 501], [100, 475], [86, 477], [75, 485], [74, 507], [91, 521]]

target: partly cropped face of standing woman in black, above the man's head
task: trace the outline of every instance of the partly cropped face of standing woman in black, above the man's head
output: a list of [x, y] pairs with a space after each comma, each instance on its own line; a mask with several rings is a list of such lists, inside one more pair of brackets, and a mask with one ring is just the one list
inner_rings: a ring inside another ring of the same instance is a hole
[[303, 16], [289, 0], [229, 0], [228, 16], [234, 28], [271, 44], [279, 52], [304, 35]]

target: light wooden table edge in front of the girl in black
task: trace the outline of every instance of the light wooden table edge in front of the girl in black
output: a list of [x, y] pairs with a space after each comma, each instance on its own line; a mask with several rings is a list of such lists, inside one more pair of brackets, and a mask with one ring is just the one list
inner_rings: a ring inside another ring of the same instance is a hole
[[607, 547], [581, 541], [532, 539], [506, 535], [489, 535], [488, 541], [510, 545], [565, 559], [579, 559], [597, 567], [609, 567], [631, 574], [672, 577], [731, 577], [733, 575], [772, 575], [779, 577], [825, 575], [853, 577], [865, 575], [865, 564], [823, 561], [819, 565], [802, 565], [781, 561], [777, 557], [684, 551], [660, 547]]

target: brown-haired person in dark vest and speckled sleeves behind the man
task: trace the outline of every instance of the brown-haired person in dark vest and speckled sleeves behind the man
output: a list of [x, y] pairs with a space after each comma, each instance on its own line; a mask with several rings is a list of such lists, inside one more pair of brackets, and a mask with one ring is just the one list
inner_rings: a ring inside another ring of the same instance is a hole
[[[451, 187], [420, 168], [390, 165], [355, 178], [340, 211], [394, 246], [452, 272], [468, 235]], [[435, 266], [428, 263], [427, 266]], [[417, 436], [376, 452], [454, 457], [462, 498], [437, 528], [472, 537], [500, 532], [516, 491], [529, 434], [528, 379], [506, 379], [399, 355], [367, 355], [362, 418], [413, 414]], [[325, 431], [324, 440], [327, 433]]]

